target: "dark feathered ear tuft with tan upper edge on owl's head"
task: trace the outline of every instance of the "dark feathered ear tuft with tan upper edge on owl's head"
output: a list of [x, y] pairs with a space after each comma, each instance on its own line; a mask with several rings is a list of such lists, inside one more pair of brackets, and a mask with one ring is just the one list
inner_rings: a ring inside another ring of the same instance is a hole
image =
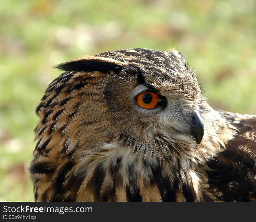
[[56, 65], [64, 71], [77, 71], [77, 72], [93, 72], [99, 71], [108, 73], [109, 71], [119, 71], [124, 66], [128, 65], [127, 62], [121, 62], [111, 58], [86, 56], [83, 59], [70, 60], [65, 63]]

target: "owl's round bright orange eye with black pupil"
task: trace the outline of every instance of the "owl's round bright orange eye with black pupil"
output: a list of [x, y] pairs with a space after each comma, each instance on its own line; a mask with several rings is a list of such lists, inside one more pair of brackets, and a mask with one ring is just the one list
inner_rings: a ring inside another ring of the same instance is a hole
[[141, 92], [138, 94], [136, 101], [144, 109], [153, 109], [157, 106], [158, 95], [153, 92]]

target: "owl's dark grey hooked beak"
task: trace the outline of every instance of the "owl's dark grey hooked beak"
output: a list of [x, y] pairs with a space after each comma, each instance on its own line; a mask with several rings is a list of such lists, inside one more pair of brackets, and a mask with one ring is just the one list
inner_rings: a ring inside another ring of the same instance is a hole
[[192, 123], [189, 134], [195, 138], [197, 144], [200, 144], [204, 137], [204, 132], [205, 128], [202, 118], [200, 117], [198, 112], [195, 111], [192, 113]]

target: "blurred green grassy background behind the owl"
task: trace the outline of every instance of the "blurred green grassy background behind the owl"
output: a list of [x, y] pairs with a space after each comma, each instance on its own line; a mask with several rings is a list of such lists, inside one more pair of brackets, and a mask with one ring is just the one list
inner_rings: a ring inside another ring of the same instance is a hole
[[256, 114], [256, 1], [2, 0], [0, 21], [0, 201], [33, 201], [35, 108], [63, 61], [175, 47], [211, 106]]

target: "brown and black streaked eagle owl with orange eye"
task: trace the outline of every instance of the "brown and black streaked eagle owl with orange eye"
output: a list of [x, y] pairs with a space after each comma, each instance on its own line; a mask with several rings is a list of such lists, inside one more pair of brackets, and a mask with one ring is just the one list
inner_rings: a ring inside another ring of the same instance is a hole
[[211, 108], [180, 52], [57, 67], [36, 110], [36, 201], [256, 200], [256, 116]]

